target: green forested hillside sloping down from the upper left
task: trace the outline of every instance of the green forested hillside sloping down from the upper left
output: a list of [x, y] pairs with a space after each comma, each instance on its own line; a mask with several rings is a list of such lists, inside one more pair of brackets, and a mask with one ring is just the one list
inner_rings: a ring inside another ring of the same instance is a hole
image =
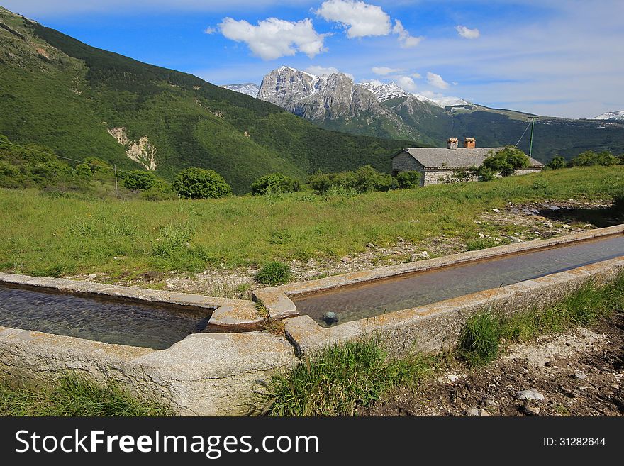
[[[113, 128], [125, 128], [126, 145], [108, 133]], [[135, 143], [135, 155], [153, 155], [164, 177], [211, 168], [239, 193], [269, 172], [303, 178], [360, 165], [389, 170], [391, 155], [413, 145], [318, 128], [267, 102], [92, 48], [1, 7], [0, 133], [130, 169], [141, 166], [126, 155]]]

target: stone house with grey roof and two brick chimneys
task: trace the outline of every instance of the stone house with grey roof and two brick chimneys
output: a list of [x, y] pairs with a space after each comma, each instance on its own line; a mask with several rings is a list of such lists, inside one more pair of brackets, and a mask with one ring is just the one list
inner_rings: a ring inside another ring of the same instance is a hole
[[[464, 147], [457, 147], [457, 138], [447, 140], [447, 148], [406, 148], [392, 157], [392, 175], [400, 172], [420, 172], [420, 186], [445, 182], [456, 170], [467, 170], [479, 166], [493, 150], [503, 148], [476, 148], [474, 138], [466, 138]], [[530, 165], [515, 174], [535, 173], [544, 165], [530, 157]], [[473, 179], [472, 181], [476, 181]]]

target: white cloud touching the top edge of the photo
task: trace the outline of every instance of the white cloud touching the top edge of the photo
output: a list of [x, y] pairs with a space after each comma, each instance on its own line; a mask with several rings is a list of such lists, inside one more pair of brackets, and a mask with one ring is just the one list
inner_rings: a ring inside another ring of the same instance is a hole
[[327, 0], [316, 10], [327, 21], [336, 21], [347, 30], [348, 38], [388, 35], [390, 16], [380, 6], [355, 0]]

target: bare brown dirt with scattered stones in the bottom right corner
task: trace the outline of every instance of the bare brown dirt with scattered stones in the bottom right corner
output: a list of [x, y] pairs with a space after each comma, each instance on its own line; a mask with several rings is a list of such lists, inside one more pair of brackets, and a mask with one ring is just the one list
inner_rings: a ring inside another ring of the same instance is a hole
[[[624, 314], [509, 345], [486, 367], [444, 362], [364, 416], [624, 416]], [[530, 391], [530, 392], [526, 392]], [[522, 399], [522, 398], [533, 399]], [[542, 399], [535, 399], [542, 398]]]

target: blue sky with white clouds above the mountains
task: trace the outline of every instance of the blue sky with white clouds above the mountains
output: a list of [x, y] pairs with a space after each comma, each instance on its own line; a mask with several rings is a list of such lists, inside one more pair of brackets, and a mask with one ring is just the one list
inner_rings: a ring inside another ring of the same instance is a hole
[[624, 109], [621, 0], [0, 2], [215, 84], [260, 84], [288, 65], [549, 116]]

